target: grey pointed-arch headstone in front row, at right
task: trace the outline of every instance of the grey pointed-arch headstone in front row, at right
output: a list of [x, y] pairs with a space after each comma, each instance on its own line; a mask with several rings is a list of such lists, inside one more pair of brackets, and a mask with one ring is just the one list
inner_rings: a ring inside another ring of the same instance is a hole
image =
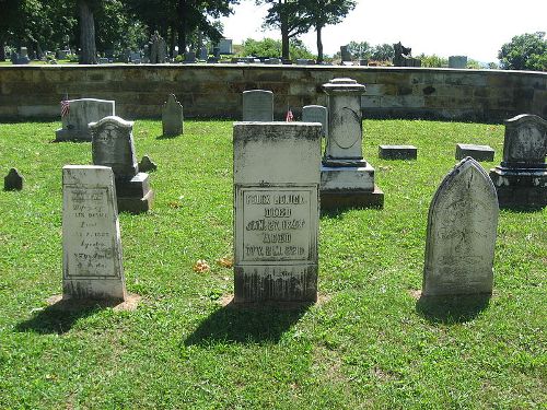
[[480, 164], [466, 157], [429, 208], [423, 296], [492, 293], [498, 197]]

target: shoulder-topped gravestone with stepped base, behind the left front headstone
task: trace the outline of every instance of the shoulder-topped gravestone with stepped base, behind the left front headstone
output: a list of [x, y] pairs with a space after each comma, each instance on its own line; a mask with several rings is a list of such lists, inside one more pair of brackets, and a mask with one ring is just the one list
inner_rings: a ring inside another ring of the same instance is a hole
[[93, 164], [112, 167], [118, 210], [139, 213], [152, 207], [154, 195], [149, 175], [139, 173], [132, 128], [133, 122], [115, 116], [90, 124]]

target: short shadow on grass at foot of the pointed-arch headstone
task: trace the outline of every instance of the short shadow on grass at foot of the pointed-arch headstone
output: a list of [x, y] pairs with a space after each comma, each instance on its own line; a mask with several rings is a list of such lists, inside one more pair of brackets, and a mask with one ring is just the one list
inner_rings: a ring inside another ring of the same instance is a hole
[[462, 324], [473, 320], [490, 303], [490, 294], [420, 296], [416, 312], [432, 324]]

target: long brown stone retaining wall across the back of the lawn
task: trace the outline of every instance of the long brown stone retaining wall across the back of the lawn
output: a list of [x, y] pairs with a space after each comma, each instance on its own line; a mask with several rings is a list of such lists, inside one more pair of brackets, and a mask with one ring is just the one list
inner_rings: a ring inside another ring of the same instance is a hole
[[547, 118], [547, 72], [263, 65], [104, 65], [0, 67], [0, 120], [59, 118], [59, 102], [116, 101], [126, 119], [160, 118], [175, 93], [186, 118], [242, 116], [242, 92], [275, 93], [276, 118], [290, 106], [325, 104], [321, 85], [349, 77], [366, 85], [365, 118], [498, 122], [516, 114]]

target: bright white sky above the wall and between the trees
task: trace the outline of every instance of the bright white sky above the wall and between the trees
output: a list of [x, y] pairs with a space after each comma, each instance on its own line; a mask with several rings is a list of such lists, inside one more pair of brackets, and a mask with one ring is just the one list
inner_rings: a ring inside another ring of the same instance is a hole
[[[498, 50], [515, 35], [547, 32], [547, 0], [358, 0], [338, 25], [323, 30], [324, 52], [334, 55], [349, 42], [371, 45], [401, 42], [412, 56], [467, 56], [498, 61]], [[222, 19], [224, 37], [234, 44], [246, 38], [281, 38], [279, 31], [261, 28], [267, 5], [241, 0], [234, 14]], [[317, 52], [316, 34], [299, 37]]]

